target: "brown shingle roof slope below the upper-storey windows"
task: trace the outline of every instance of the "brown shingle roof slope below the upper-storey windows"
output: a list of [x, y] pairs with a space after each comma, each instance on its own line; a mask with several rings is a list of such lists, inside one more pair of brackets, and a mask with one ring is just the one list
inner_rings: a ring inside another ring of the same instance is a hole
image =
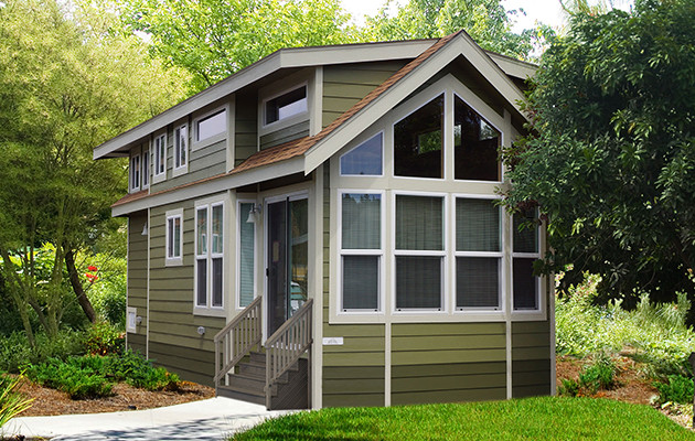
[[[354, 115], [356, 115], [360, 110], [362, 110], [367, 105], [370, 105], [372, 101], [374, 101], [376, 98], [382, 96], [392, 86], [397, 84], [403, 77], [405, 77], [410, 72], [413, 72], [417, 66], [423, 64], [427, 58], [429, 58], [431, 55], [434, 55], [437, 51], [439, 51], [441, 47], [443, 47], [447, 43], [449, 43], [451, 40], [453, 40], [456, 36], [461, 34], [462, 32], [463, 31], [459, 31], [459, 32], [456, 32], [456, 33], [452, 33], [450, 35], [447, 35], [447, 36], [443, 36], [443, 37], [439, 39], [439, 41], [437, 43], [435, 43], [430, 47], [428, 47], [417, 58], [413, 60], [410, 63], [408, 63], [405, 66], [403, 66], [398, 72], [393, 74], [384, 83], [382, 83], [375, 89], [370, 92], [364, 98], [362, 98], [360, 101], [357, 101], [354, 106], [352, 106], [350, 109], [348, 109], [344, 114], [339, 116], [333, 122], [328, 125], [325, 128], [323, 128], [323, 130], [321, 130], [316, 136], [300, 138], [300, 139], [297, 139], [297, 140], [293, 140], [293, 141], [286, 142], [286, 143], [280, 144], [280, 146], [275, 146], [275, 147], [271, 147], [269, 149], [265, 149], [265, 150], [261, 150], [259, 152], [256, 152], [256, 153], [252, 154], [250, 157], [248, 157], [239, 165], [235, 166], [234, 170], [229, 171], [228, 173], [223, 173], [223, 174], [217, 174], [215, 176], [205, 178], [203, 180], [199, 180], [199, 181], [191, 182], [191, 183], [188, 183], [188, 184], [179, 185], [179, 186], [175, 186], [173, 189], [163, 190], [161, 192], [157, 192], [157, 193], [153, 193], [151, 195], [171, 192], [171, 191], [184, 187], [184, 186], [190, 186], [190, 185], [199, 184], [199, 183], [202, 183], [202, 182], [212, 181], [212, 180], [215, 180], [215, 179], [218, 179], [218, 178], [223, 178], [223, 176], [226, 176], [226, 175], [240, 173], [240, 172], [246, 171], [246, 170], [256, 169], [258, 166], [275, 164], [275, 163], [278, 163], [278, 162], [281, 162], [281, 161], [286, 161], [288, 159], [292, 159], [292, 158], [296, 158], [296, 157], [304, 154], [309, 149], [311, 149], [313, 146], [316, 146], [319, 141], [324, 139], [327, 136], [329, 136], [335, 129], [338, 129], [340, 126], [342, 126], [344, 122], [346, 122], [350, 118], [352, 118]], [[142, 192], [133, 193], [131, 195], [127, 195], [126, 197], [122, 197], [121, 200], [119, 200], [118, 202], [116, 202], [111, 206], [118, 206], [118, 205], [126, 204], [128, 202], [132, 202], [132, 201], [139, 200], [139, 198], [141, 198], [141, 196], [137, 197], [137, 198], [131, 198], [131, 200], [129, 200], [129, 197], [130, 196], [135, 196], [135, 195], [140, 194], [140, 193], [142, 193]]]

